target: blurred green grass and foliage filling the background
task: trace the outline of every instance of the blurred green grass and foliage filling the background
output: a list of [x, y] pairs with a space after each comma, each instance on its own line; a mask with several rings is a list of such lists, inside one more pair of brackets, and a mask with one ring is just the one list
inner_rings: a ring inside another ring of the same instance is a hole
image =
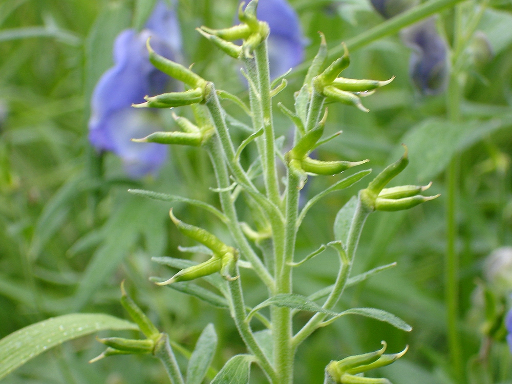
[[[201, 25], [230, 26], [237, 2], [178, 3], [183, 62], [195, 62], [195, 70], [216, 81], [218, 88], [246, 97], [236, 74], [240, 64], [212, 49], [194, 31]], [[310, 39], [307, 58], [317, 50], [317, 31], [324, 32], [329, 47], [334, 47], [382, 22], [367, 0], [291, 0], [290, 4]], [[126, 192], [130, 187], [144, 187], [218, 206], [216, 194], [209, 189], [214, 180], [206, 154], [174, 146], [158, 177], [130, 180], [119, 159], [112, 154], [99, 156], [87, 139], [92, 89], [112, 66], [113, 40], [135, 23], [135, 9], [130, 0], [0, 3], [0, 338], [70, 312], [126, 317], [119, 304], [119, 284], [126, 279], [135, 300], [184, 348], [193, 348], [204, 326], [214, 322], [220, 341], [214, 366], [219, 369], [231, 355], [244, 350], [229, 314], [168, 287], [155, 287], [148, 276], [169, 275], [151, 257], [177, 256], [178, 245], [193, 245], [169, 225], [171, 206], [184, 221], [201, 223], [226, 236], [221, 223], [194, 207], [145, 200]], [[438, 24], [445, 27], [450, 40], [453, 10], [440, 16]], [[512, 3], [492, 0], [478, 29], [486, 33], [493, 56], [478, 68], [465, 70], [462, 122], [455, 125], [446, 122], [445, 94], [422, 96], [412, 86], [410, 49], [398, 35], [351, 52], [352, 63], [344, 76], [383, 80], [394, 75], [396, 79], [364, 99], [371, 111], [368, 114], [343, 105], [329, 106], [326, 136], [344, 132], [323, 146], [318, 156], [369, 158], [377, 171], [399, 157], [399, 144], [405, 142], [411, 164], [401, 184], [433, 181], [433, 194], [443, 195], [403, 214], [378, 212], [370, 217], [354, 273], [394, 261], [398, 264], [351, 288], [338, 304], [340, 308], [389, 310], [414, 330], [406, 334], [371, 319], [339, 319], [301, 346], [297, 383], [322, 382], [330, 360], [375, 350], [381, 339], [387, 340], [392, 352], [410, 345], [402, 360], [383, 370], [395, 384], [453, 382], [447, 358], [443, 269], [445, 169], [455, 154], [460, 154], [456, 245], [460, 257], [458, 329], [464, 364], [478, 353], [483, 314], [472, 292], [477, 279], [482, 279], [486, 256], [512, 244], [511, 26]], [[290, 107], [292, 93], [301, 83], [301, 76], [292, 77], [277, 101]], [[226, 108], [239, 114], [232, 105]], [[289, 121], [277, 109], [274, 115], [277, 134], [288, 138]], [[162, 118], [166, 129], [175, 129], [166, 112]], [[305, 194], [314, 196], [335, 180], [311, 178]], [[330, 195], [310, 211], [298, 237], [299, 255], [333, 240], [336, 212], [364, 183]], [[202, 256], [180, 257], [200, 260]], [[336, 268], [336, 256], [325, 252], [297, 269], [296, 291], [309, 294], [332, 284]], [[247, 302], [257, 304], [265, 290], [254, 274], [245, 274]], [[297, 325], [307, 318], [308, 314], [297, 315]], [[81, 338], [37, 357], [4, 382], [166, 382], [159, 364], [148, 356], [111, 357], [88, 365], [101, 350], [93, 337]], [[508, 347], [498, 342], [492, 353], [494, 382], [511, 382]], [[252, 376], [254, 382], [263, 381], [256, 370]]]

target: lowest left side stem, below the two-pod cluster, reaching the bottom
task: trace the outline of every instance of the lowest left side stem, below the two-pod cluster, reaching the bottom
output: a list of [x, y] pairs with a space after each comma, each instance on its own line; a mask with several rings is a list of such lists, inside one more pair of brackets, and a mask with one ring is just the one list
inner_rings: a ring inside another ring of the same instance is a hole
[[[238, 266], [236, 267], [236, 274], [239, 274]], [[254, 334], [252, 333], [251, 327], [248, 322], [246, 322], [246, 312], [245, 312], [245, 304], [244, 297], [242, 293], [242, 284], [240, 279], [236, 279], [234, 281], [230, 281], [229, 292], [230, 292], [230, 310], [231, 316], [234, 319], [235, 324], [237, 325], [238, 332], [242, 339], [244, 340], [245, 345], [249, 349], [249, 351], [256, 356], [258, 365], [261, 367], [267, 378], [270, 382], [275, 383], [276, 381], [276, 373], [270, 361], [268, 360], [265, 353], [259, 346], [258, 342], [254, 338]]]

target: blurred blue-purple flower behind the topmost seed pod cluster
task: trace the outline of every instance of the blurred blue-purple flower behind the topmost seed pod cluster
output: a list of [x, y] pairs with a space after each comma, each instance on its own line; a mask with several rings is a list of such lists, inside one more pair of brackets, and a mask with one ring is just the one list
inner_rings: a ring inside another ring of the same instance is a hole
[[307, 40], [297, 14], [286, 0], [260, 0], [256, 15], [270, 27], [268, 58], [270, 77], [274, 79], [304, 60]]

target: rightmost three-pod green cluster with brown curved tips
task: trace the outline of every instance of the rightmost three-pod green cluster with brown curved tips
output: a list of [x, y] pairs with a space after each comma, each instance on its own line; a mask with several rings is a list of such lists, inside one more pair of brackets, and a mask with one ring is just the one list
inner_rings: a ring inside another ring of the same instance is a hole
[[432, 185], [401, 185], [392, 188], [385, 186], [396, 177], [409, 163], [407, 156], [407, 147], [403, 156], [391, 165], [388, 165], [375, 179], [373, 179], [366, 189], [362, 189], [360, 199], [370, 211], [396, 211], [409, 209], [425, 201], [438, 198], [440, 195], [422, 196], [420, 193]]

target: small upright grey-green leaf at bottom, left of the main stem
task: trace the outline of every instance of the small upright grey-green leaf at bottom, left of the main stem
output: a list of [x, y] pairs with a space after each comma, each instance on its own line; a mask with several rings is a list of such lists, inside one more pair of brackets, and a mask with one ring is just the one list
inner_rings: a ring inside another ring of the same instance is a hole
[[214, 359], [217, 348], [217, 333], [212, 324], [208, 324], [201, 332], [196, 348], [190, 356], [187, 367], [186, 384], [201, 384], [206, 376], [211, 360]]

